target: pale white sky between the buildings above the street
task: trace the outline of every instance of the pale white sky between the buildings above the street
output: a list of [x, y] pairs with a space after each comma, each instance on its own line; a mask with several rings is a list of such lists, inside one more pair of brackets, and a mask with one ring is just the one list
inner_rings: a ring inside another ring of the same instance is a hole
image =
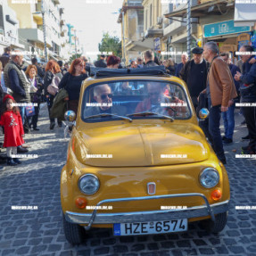
[[[77, 29], [77, 36], [84, 45], [84, 55], [91, 61], [96, 55], [87, 52], [98, 52], [103, 32], [121, 37], [121, 25], [117, 23], [122, 0], [61, 0], [64, 7], [64, 19]], [[105, 3], [105, 4], [103, 4]]]

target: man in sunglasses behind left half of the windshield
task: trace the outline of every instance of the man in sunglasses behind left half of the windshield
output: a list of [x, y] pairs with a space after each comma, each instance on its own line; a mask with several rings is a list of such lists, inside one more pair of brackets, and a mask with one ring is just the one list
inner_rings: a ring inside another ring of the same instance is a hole
[[86, 116], [92, 116], [102, 113], [112, 113], [125, 115], [126, 108], [123, 106], [112, 105], [111, 87], [107, 84], [95, 86], [94, 100], [96, 103], [89, 103], [86, 110]]

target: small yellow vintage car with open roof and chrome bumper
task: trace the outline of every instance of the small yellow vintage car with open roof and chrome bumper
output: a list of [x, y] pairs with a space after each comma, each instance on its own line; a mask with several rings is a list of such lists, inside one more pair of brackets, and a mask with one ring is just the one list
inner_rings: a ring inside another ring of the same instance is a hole
[[[200, 111], [202, 118], [207, 110]], [[163, 68], [95, 70], [80, 91], [62, 169], [64, 233], [80, 244], [91, 227], [113, 235], [184, 232], [227, 223], [227, 171], [207, 142], [186, 84]]]

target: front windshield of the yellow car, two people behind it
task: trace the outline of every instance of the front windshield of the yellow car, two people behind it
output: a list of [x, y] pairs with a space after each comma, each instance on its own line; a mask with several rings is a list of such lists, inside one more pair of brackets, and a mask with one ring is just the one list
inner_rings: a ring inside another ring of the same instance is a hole
[[191, 117], [184, 89], [171, 82], [123, 80], [87, 87], [82, 120], [164, 119]]

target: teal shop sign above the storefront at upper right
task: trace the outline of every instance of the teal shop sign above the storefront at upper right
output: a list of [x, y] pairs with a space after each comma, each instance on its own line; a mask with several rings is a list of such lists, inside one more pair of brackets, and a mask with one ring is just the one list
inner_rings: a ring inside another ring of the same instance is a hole
[[203, 26], [203, 37], [216, 37], [250, 31], [251, 27], [234, 27], [234, 21], [222, 21]]

